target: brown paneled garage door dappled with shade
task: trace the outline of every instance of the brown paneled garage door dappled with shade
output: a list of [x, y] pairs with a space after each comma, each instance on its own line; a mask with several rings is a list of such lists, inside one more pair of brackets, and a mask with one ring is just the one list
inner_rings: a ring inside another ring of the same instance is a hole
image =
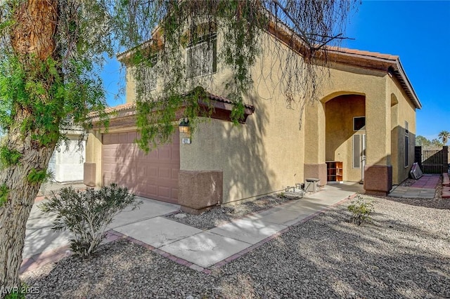
[[179, 133], [147, 155], [134, 143], [136, 132], [103, 134], [103, 184], [128, 187], [134, 194], [176, 203], [180, 169]]

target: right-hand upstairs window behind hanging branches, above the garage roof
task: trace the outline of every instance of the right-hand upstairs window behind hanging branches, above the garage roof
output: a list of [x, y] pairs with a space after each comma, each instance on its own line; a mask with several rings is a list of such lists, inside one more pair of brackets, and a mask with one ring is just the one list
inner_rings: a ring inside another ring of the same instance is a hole
[[186, 77], [194, 78], [217, 72], [217, 36], [203, 36], [186, 48]]

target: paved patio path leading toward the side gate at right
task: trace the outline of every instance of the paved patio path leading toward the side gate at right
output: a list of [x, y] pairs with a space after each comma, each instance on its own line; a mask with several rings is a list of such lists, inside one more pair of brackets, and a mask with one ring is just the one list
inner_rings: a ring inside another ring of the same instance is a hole
[[409, 187], [395, 187], [394, 190], [390, 192], [389, 196], [433, 199], [435, 198], [435, 192], [437, 184], [439, 183], [439, 178], [439, 174], [425, 174]]

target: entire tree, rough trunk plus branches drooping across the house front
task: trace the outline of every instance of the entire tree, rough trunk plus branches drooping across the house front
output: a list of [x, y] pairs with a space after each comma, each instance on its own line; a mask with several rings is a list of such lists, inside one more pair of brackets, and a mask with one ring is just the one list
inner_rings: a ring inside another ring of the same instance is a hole
[[[278, 60], [276, 73], [281, 76], [274, 81], [286, 105], [299, 107], [302, 115], [305, 103], [316, 100], [325, 78], [324, 68], [316, 65], [326, 65], [325, 46], [342, 38], [340, 29], [354, 4], [0, 1], [0, 127], [6, 133], [0, 145], [0, 287], [19, 285], [25, 225], [51, 154], [64, 138], [60, 128], [72, 122], [89, 128], [92, 112], [108, 125], [100, 76], [106, 57], [127, 50], [122, 61], [134, 69], [137, 81], [138, 142], [148, 151], [169, 140], [177, 117], [188, 117], [195, 125], [198, 116], [211, 113], [200, 108], [199, 100], [207, 104], [212, 77], [189, 75], [184, 49], [205, 43], [195, 55], [217, 51], [217, 65], [231, 73], [223, 82], [222, 95], [233, 102], [233, 121], [243, 117], [245, 98], [259, 79], [253, 77], [252, 68], [268, 54]], [[278, 29], [283, 36], [277, 35]], [[269, 49], [262, 36], [270, 30], [276, 46]], [[285, 46], [294, 51], [281, 55]], [[146, 88], [155, 73], [158, 92]]]

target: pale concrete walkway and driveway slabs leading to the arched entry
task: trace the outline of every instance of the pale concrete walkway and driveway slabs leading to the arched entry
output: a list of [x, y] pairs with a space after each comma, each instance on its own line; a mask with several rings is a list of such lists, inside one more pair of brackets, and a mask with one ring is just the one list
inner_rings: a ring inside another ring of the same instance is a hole
[[[107, 241], [129, 239], [176, 263], [208, 273], [362, 191], [359, 184], [327, 185], [316, 194], [252, 213], [212, 230], [198, 230], [169, 220], [163, 216], [176, 213], [179, 206], [143, 199], [141, 208], [117, 215], [109, 227]], [[27, 223], [22, 272], [69, 254], [67, 235], [53, 234], [51, 219], [39, 215], [36, 206], [33, 209], [34, 217]]]

